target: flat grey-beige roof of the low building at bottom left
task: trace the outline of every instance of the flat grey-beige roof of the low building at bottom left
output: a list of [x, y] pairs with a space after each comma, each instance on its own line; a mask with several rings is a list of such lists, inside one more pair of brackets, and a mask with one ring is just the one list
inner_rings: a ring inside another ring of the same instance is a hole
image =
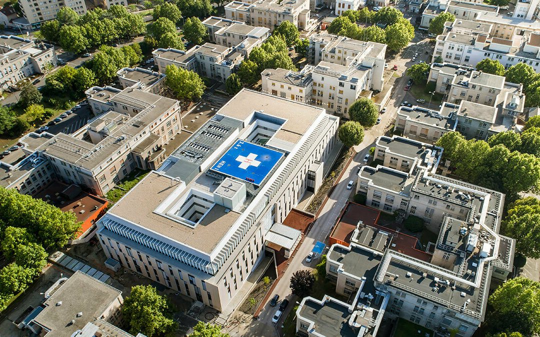
[[[52, 336], [70, 337], [89, 321], [99, 318], [121, 294], [118, 289], [77, 271], [45, 300], [45, 309], [34, 320], [49, 328]], [[62, 305], [57, 305], [58, 302]]]

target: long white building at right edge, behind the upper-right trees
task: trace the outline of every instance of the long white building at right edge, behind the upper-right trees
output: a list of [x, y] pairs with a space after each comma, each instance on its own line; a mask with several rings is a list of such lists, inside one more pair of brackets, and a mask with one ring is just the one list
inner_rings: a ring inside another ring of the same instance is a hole
[[[521, 32], [521, 31], [520, 31]], [[515, 38], [515, 35], [512, 35]], [[441, 56], [444, 62], [476, 66], [489, 58], [508, 68], [525, 63], [540, 71], [540, 33], [529, 33], [521, 39], [508, 40], [489, 37], [488, 33], [469, 32], [450, 24], [446, 32], [437, 36], [432, 60]]]

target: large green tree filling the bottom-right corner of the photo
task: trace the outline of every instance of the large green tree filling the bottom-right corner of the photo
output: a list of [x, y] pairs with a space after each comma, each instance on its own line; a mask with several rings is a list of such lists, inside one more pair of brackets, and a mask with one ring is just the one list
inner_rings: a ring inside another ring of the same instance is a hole
[[489, 322], [525, 336], [537, 335], [540, 333], [539, 301], [540, 283], [523, 277], [510, 279], [488, 299], [493, 307]]

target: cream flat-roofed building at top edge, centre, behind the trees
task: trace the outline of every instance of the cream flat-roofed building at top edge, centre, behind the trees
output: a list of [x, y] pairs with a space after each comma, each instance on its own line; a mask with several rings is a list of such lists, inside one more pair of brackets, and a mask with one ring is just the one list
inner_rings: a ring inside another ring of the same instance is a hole
[[284, 21], [292, 22], [300, 30], [315, 26], [309, 0], [232, 1], [225, 5], [225, 17], [270, 30]]

